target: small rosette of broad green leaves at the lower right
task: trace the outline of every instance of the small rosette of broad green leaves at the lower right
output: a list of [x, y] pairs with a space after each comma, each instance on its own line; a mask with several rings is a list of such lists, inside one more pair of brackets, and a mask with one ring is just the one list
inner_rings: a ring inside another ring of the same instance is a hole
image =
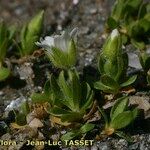
[[115, 104], [111, 108], [110, 116], [108, 117], [102, 108], [99, 108], [102, 116], [104, 117], [105, 127], [101, 134], [112, 135], [116, 134], [122, 138], [132, 141], [132, 139], [126, 135], [121, 129], [131, 124], [138, 115], [138, 109], [134, 108], [129, 110], [129, 99], [124, 96], [116, 100]]

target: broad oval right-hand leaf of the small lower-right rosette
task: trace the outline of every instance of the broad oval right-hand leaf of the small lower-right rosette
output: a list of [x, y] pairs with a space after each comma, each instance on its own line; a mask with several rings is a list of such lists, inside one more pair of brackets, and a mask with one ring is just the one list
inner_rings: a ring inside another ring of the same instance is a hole
[[111, 120], [110, 126], [115, 130], [125, 128], [134, 120], [132, 111], [124, 111]]

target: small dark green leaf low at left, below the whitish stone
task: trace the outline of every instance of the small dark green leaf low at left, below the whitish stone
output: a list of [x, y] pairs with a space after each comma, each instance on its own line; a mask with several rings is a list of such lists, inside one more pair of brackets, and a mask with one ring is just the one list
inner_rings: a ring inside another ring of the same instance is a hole
[[19, 113], [16, 115], [15, 117], [16, 123], [20, 126], [26, 125], [27, 121], [26, 121], [26, 115], [23, 113]]

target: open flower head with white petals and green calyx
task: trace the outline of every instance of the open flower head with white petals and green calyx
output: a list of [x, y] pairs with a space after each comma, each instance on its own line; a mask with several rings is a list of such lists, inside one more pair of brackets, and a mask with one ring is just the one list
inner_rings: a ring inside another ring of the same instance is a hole
[[37, 45], [46, 50], [54, 66], [69, 69], [74, 67], [77, 60], [76, 34], [77, 28], [70, 33], [64, 31], [61, 35], [46, 36], [44, 40], [37, 42]]

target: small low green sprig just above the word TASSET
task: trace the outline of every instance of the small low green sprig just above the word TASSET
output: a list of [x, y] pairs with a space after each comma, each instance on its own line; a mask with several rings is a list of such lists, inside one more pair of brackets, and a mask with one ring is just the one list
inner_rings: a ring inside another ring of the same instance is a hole
[[61, 140], [71, 140], [77, 137], [81, 137], [83, 134], [87, 134], [87, 132], [91, 131], [94, 128], [94, 124], [86, 123], [84, 125], [81, 125], [80, 128], [71, 130], [70, 132], [67, 132], [61, 137]]

